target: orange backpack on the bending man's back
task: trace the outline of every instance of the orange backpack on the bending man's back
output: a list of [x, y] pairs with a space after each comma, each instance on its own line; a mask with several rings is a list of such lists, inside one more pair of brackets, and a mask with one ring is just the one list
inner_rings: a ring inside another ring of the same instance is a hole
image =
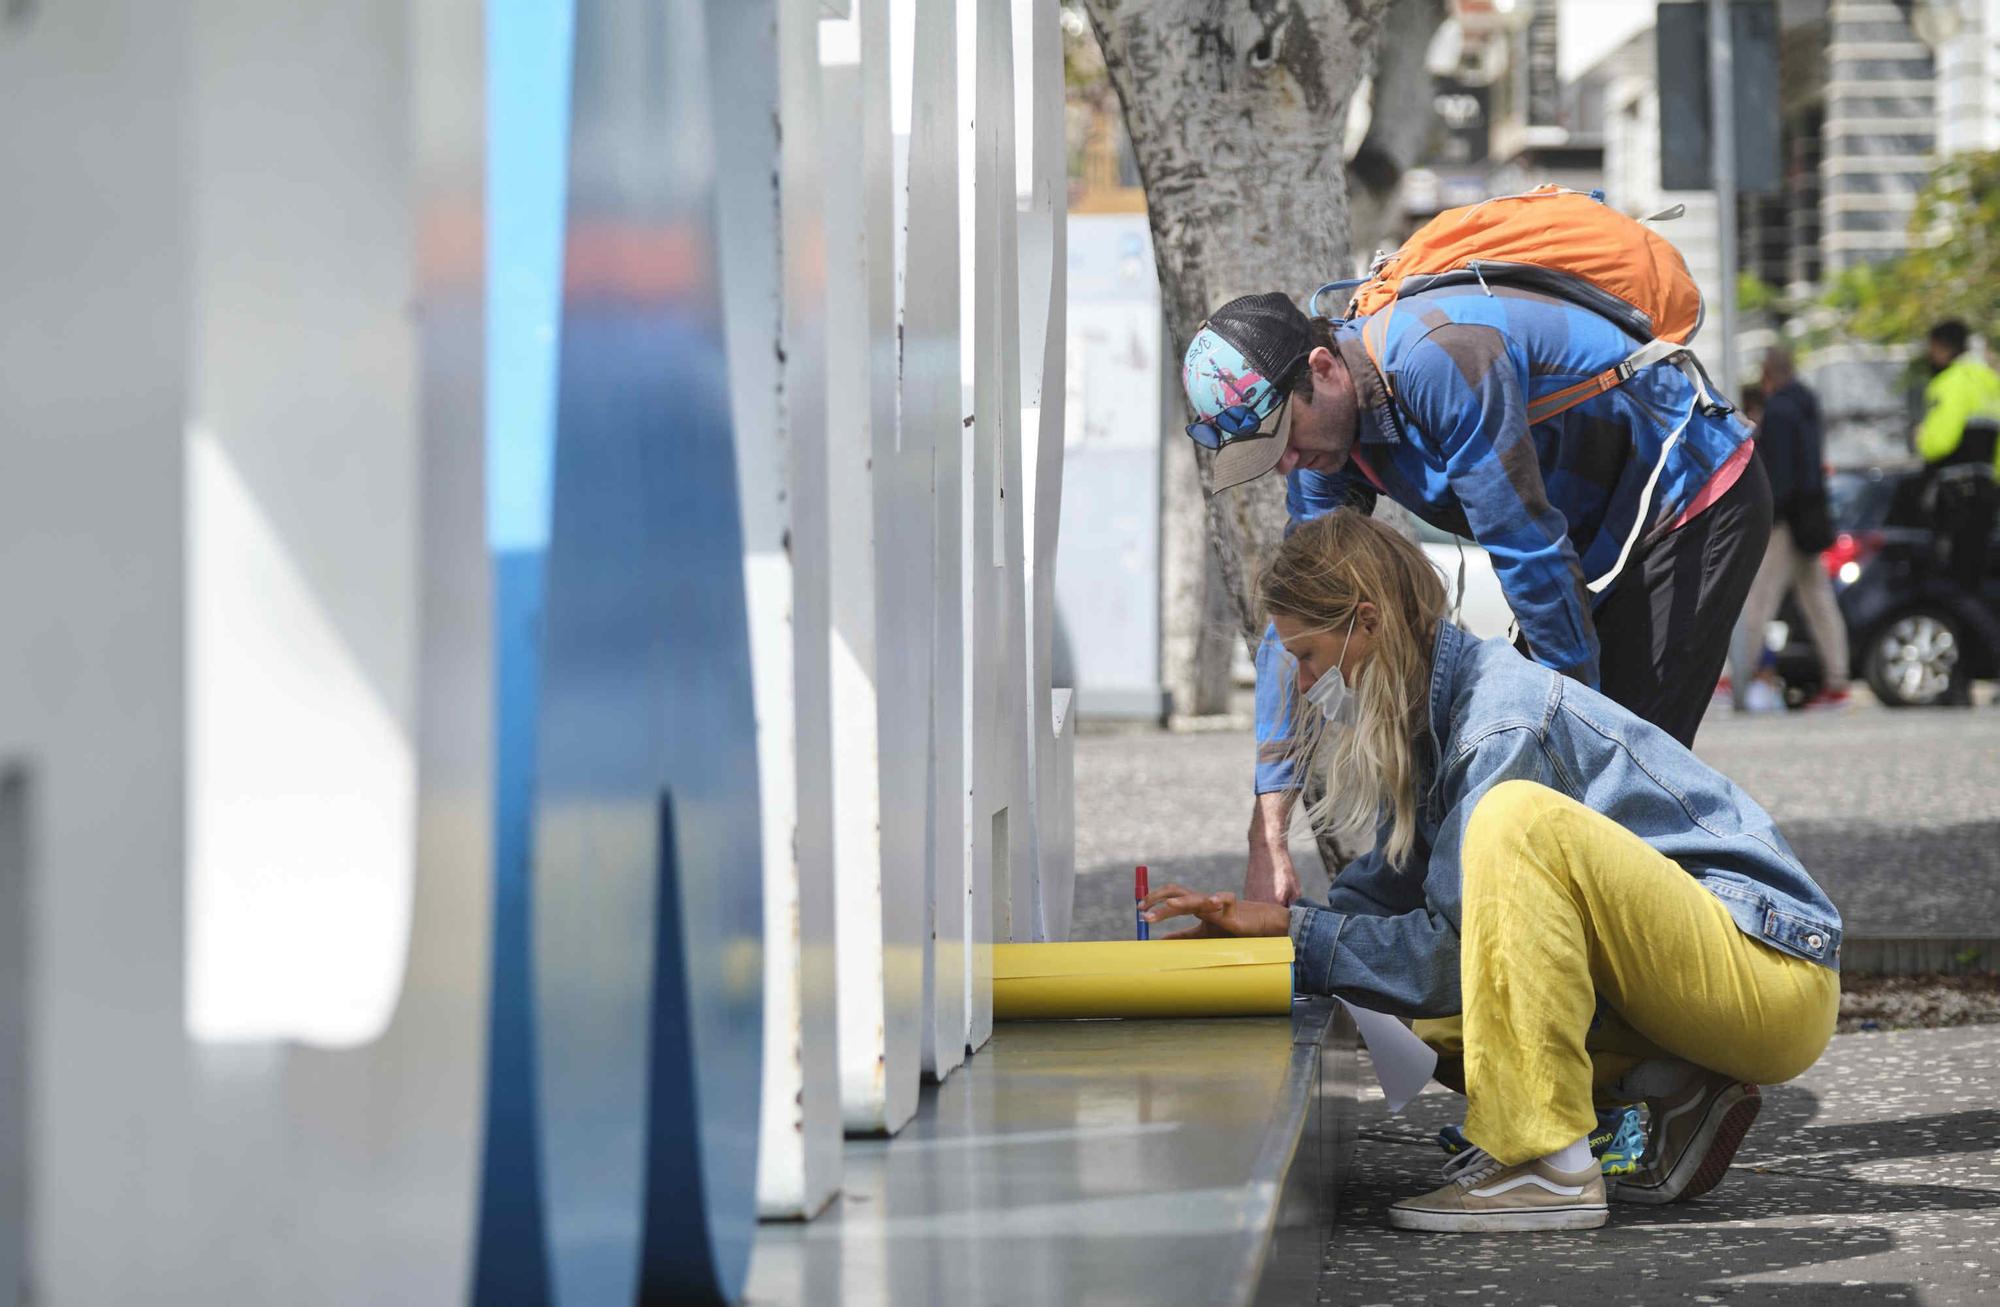
[[[1678, 216], [1676, 210], [1658, 218]], [[1330, 282], [1312, 292], [1318, 312], [1328, 290], [1354, 286], [1348, 318], [1368, 316], [1362, 344], [1382, 366], [1382, 342], [1396, 302], [1440, 286], [1492, 284], [1538, 290], [1608, 318], [1644, 342], [1614, 368], [1528, 406], [1528, 422], [1546, 422], [1624, 384], [1652, 364], [1680, 368], [1710, 416], [1730, 406], [1710, 392], [1708, 376], [1686, 348], [1702, 326], [1702, 292], [1666, 238], [1644, 222], [1584, 194], [1538, 186], [1520, 196], [1496, 196], [1450, 208], [1418, 228], [1394, 254], [1376, 260], [1358, 282]], [[1388, 378], [1384, 378], [1388, 380]]]

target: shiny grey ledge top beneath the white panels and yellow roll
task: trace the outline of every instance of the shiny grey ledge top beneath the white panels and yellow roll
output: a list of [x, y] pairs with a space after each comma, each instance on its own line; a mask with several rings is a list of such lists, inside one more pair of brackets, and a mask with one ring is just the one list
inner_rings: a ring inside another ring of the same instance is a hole
[[748, 1301], [1310, 1301], [1354, 1137], [1338, 1011], [1000, 1025], [848, 1141], [826, 1215], [758, 1229]]

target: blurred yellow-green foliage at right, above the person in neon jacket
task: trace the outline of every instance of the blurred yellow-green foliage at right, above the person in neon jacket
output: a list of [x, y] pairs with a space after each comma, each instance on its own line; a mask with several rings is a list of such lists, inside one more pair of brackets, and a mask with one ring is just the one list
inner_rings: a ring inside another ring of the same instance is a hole
[[1910, 344], [1944, 318], [1992, 336], [2000, 328], [2000, 150], [1938, 164], [1910, 214], [1910, 252], [1848, 268], [1822, 302], [1862, 340]]

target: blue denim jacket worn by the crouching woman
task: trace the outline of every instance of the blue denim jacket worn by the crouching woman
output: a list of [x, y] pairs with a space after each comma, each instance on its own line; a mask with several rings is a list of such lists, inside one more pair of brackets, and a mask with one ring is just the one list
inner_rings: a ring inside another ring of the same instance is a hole
[[[1666, 731], [1524, 659], [1438, 624], [1430, 737], [1408, 867], [1378, 847], [1292, 905], [1294, 985], [1402, 1017], [1460, 1011], [1460, 843], [1502, 781], [1578, 799], [1678, 861], [1752, 939], [1840, 967], [1840, 913], [1770, 813]], [[1386, 831], [1386, 821], [1384, 827]]]

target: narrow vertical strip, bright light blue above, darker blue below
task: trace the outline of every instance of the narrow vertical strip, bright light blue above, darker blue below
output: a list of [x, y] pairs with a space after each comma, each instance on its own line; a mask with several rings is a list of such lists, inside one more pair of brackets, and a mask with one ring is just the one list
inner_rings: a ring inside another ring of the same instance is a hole
[[486, 6], [486, 528], [494, 586], [494, 961], [476, 1307], [550, 1301], [536, 1135], [530, 849], [570, 144], [570, 0]]

